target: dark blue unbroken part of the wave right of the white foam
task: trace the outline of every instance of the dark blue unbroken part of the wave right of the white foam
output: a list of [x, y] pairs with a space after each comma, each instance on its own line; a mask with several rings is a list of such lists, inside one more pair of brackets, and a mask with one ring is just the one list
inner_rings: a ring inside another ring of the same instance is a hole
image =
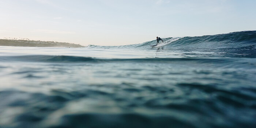
[[184, 37], [168, 47], [174, 48], [241, 48], [245, 46], [252, 46], [255, 49], [256, 44], [256, 31], [240, 31], [227, 34], [218, 35], [204, 35], [201, 37]]

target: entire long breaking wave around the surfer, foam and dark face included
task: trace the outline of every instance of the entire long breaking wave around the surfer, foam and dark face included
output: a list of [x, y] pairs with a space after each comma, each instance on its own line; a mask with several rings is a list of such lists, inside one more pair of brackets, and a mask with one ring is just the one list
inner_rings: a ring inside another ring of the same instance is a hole
[[[256, 57], [256, 31], [240, 31], [200, 37], [170, 37], [163, 38], [163, 40], [163, 43], [154, 48], [163, 48], [164, 50], [228, 52], [233, 54], [247, 54], [245, 57]], [[124, 46], [89, 45], [85, 48], [151, 50], [152, 48], [150, 46], [155, 44], [156, 40]]]

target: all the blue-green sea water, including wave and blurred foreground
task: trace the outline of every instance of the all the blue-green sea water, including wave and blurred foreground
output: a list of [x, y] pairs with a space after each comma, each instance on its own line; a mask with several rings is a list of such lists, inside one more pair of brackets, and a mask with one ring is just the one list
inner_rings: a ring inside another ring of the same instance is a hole
[[256, 31], [0, 46], [0, 128], [256, 127]]

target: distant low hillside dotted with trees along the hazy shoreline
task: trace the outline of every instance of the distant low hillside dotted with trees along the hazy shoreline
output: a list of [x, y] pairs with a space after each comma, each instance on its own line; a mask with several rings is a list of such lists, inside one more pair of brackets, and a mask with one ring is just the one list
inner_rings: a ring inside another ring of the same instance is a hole
[[16, 39], [0, 39], [1, 46], [25, 46], [25, 47], [70, 47], [79, 48], [84, 47], [80, 44], [71, 44], [65, 42], [54, 41], [30, 41], [30, 40], [16, 40]]

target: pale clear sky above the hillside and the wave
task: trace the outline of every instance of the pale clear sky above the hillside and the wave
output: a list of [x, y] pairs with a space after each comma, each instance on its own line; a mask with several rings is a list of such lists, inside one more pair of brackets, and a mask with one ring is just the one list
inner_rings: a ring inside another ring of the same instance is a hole
[[256, 0], [0, 0], [0, 38], [128, 45], [256, 30]]

